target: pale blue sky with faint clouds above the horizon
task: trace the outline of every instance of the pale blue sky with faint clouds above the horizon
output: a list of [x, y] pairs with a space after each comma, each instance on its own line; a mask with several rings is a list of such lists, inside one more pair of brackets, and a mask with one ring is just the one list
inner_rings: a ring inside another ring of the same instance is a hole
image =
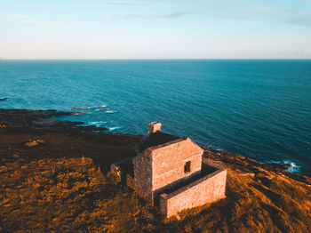
[[0, 0], [1, 59], [311, 59], [311, 0]]

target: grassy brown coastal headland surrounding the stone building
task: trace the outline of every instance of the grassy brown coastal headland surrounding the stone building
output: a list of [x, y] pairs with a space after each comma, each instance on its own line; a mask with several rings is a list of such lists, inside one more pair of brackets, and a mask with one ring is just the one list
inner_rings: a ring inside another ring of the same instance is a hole
[[[227, 169], [227, 198], [166, 220], [108, 173], [140, 135], [82, 133], [68, 113], [0, 109], [0, 231], [308, 232], [311, 178], [203, 148]], [[84, 130], [87, 131], [87, 130]]]

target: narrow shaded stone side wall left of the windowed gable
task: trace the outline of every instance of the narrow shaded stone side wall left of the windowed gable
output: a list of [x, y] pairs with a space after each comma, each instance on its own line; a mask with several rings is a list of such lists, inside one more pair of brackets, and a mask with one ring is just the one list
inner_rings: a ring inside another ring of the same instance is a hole
[[134, 166], [134, 182], [139, 193], [143, 197], [152, 199], [152, 162], [149, 155], [150, 151], [146, 149], [137, 157], [132, 159]]

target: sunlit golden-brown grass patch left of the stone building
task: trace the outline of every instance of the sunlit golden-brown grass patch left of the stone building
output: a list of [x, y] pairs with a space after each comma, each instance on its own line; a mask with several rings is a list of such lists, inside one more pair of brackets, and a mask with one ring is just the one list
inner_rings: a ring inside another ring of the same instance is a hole
[[0, 173], [3, 229], [115, 232], [137, 222], [146, 208], [89, 157], [17, 161]]

